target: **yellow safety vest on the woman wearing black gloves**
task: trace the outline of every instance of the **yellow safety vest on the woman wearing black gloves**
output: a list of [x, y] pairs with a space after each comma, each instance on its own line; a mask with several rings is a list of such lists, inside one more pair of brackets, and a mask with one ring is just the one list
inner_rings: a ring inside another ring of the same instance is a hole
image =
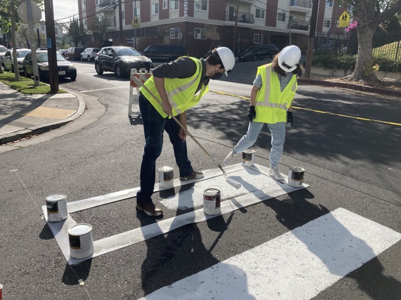
[[262, 87], [256, 94], [254, 121], [268, 124], [285, 122], [298, 87], [297, 76], [293, 74], [290, 82], [281, 91], [278, 75], [272, 70], [271, 64], [260, 66], [257, 74], [259, 73]]

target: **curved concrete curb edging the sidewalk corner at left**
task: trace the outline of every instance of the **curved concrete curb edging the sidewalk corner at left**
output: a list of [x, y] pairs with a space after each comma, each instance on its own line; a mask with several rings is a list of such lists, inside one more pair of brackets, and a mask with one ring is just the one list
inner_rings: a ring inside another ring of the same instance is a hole
[[76, 111], [76, 113], [74, 113], [72, 116], [68, 117], [67, 119], [64, 120], [60, 120], [60, 121], [56, 121], [53, 123], [49, 123], [46, 125], [38, 125], [38, 126], [34, 126], [34, 127], [30, 127], [28, 129], [23, 129], [23, 130], [19, 130], [19, 131], [15, 131], [12, 133], [8, 133], [8, 134], [4, 134], [4, 135], [0, 135], [0, 145], [5, 144], [5, 143], [9, 143], [12, 141], [16, 141], [18, 139], [24, 138], [26, 136], [29, 135], [34, 135], [34, 134], [41, 134], [41, 133], [45, 133], [48, 131], [51, 131], [53, 129], [59, 128], [73, 120], [75, 120], [76, 118], [82, 116], [82, 114], [85, 112], [85, 101], [84, 98], [80, 95], [77, 95], [73, 92], [68, 91], [70, 94], [74, 95], [78, 101], [79, 101], [79, 107], [78, 110]]

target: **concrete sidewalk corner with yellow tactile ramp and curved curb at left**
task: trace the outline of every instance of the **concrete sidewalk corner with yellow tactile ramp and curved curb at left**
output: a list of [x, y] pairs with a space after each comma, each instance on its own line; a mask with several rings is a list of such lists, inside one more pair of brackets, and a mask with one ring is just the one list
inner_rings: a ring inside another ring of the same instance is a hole
[[84, 110], [73, 93], [24, 95], [0, 82], [0, 144], [58, 128]]

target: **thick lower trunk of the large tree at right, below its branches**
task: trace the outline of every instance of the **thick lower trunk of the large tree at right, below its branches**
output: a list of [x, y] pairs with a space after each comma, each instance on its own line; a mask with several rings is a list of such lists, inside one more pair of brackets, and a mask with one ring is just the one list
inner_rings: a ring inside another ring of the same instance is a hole
[[372, 39], [373, 39], [374, 28], [370, 26], [358, 27], [358, 56], [356, 58], [355, 70], [351, 74], [348, 80], [365, 82], [377, 82], [379, 79], [373, 72], [373, 60], [372, 60]]

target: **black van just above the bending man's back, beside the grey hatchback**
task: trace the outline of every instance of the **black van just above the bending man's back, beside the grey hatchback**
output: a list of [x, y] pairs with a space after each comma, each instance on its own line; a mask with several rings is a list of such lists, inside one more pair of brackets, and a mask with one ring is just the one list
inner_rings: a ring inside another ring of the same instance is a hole
[[188, 51], [182, 45], [150, 45], [141, 54], [150, 58], [153, 63], [169, 63], [180, 56], [188, 55]]

